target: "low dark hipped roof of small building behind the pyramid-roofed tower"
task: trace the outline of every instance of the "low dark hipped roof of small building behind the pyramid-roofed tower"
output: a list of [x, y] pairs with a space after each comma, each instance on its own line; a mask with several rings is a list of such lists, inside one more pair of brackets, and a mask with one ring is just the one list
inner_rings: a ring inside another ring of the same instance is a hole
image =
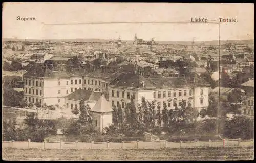
[[78, 89], [65, 98], [73, 100], [97, 101], [100, 98], [100, 92]]

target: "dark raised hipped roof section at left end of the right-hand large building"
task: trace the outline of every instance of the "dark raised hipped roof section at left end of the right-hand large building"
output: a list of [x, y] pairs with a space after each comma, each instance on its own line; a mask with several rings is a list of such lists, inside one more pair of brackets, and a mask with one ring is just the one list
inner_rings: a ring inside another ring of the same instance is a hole
[[125, 86], [133, 88], [142, 88], [144, 82], [145, 87], [153, 87], [153, 84], [138, 74], [132, 74], [130, 72], [121, 73], [116, 77], [110, 85]]

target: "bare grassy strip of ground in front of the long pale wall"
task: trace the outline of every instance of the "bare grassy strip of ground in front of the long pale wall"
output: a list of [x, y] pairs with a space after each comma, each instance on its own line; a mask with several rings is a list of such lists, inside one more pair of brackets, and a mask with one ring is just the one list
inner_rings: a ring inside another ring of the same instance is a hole
[[253, 148], [190, 149], [3, 149], [3, 160], [252, 160]]

